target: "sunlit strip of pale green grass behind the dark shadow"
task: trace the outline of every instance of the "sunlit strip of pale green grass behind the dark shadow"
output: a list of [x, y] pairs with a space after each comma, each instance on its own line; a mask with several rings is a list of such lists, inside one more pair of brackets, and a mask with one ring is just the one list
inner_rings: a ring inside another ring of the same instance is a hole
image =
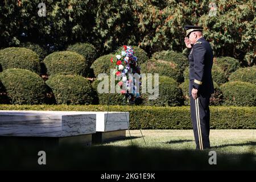
[[[146, 145], [139, 130], [130, 130], [133, 144], [137, 147], [150, 147], [168, 150], [194, 150], [195, 141], [192, 130], [142, 130]], [[103, 144], [104, 146], [129, 146], [131, 140], [126, 131], [126, 140]], [[210, 144], [221, 154], [256, 155], [255, 130], [210, 130]]]

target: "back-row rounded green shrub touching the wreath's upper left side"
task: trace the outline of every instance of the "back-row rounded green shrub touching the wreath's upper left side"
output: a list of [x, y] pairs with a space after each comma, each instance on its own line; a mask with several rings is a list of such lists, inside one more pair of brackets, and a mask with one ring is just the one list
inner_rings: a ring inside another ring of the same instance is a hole
[[100, 73], [110, 75], [110, 69], [115, 68], [113, 63], [110, 62], [112, 57], [115, 59], [115, 55], [113, 54], [101, 56], [93, 62], [91, 68], [93, 69], [95, 77], [97, 77]]

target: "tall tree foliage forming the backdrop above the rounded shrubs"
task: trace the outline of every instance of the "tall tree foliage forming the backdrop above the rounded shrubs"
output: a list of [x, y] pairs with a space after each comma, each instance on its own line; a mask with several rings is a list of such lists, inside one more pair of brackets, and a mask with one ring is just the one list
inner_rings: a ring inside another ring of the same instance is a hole
[[[148, 55], [167, 49], [181, 52], [184, 25], [198, 24], [215, 56], [256, 63], [254, 0], [46, 0], [45, 17], [38, 16], [41, 1], [19, 2], [0, 2], [0, 47], [33, 40], [49, 51], [89, 42], [102, 55], [122, 44], [137, 45]], [[216, 16], [209, 16], [212, 3]]]

